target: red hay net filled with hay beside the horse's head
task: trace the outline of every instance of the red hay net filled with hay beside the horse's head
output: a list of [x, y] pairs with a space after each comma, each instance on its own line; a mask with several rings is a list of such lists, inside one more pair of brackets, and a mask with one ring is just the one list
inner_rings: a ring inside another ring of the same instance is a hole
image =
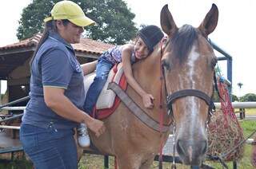
[[[244, 139], [242, 128], [234, 114], [234, 108], [230, 101], [227, 86], [219, 80], [218, 91], [221, 96], [221, 108], [216, 109], [210, 120], [208, 131], [208, 155], [221, 155], [226, 151], [230, 151]], [[231, 161], [241, 159], [243, 151], [243, 146], [238, 147], [224, 157], [224, 160]]]

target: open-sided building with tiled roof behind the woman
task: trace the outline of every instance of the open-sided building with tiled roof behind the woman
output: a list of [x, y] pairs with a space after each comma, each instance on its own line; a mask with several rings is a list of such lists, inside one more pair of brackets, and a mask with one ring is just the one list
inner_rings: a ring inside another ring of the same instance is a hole
[[[0, 47], [0, 80], [7, 81], [6, 97], [9, 102], [28, 96], [30, 88], [30, 59], [42, 34], [37, 33], [24, 41]], [[74, 47], [78, 61], [94, 61], [112, 45], [82, 37]], [[17, 104], [24, 106], [26, 103]]]

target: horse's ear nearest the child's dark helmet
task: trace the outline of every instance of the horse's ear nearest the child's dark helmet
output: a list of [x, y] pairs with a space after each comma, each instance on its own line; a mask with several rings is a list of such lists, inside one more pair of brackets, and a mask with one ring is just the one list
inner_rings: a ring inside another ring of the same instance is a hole
[[173, 16], [170, 14], [170, 10], [168, 9], [167, 4], [162, 7], [160, 20], [161, 20], [162, 30], [168, 36], [170, 36], [171, 34], [174, 34], [176, 32], [176, 30], [178, 29], [174, 22]]

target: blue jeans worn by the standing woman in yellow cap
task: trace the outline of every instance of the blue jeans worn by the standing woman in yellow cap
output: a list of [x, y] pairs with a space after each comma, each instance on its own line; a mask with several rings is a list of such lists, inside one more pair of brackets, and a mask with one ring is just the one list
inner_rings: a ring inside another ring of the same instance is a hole
[[38, 128], [22, 124], [20, 140], [36, 169], [77, 169], [78, 154], [73, 129]]

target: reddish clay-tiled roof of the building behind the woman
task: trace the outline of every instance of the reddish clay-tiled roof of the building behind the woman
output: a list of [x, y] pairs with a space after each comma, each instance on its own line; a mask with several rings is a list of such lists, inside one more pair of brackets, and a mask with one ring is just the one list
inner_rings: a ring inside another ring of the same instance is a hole
[[[41, 37], [42, 37], [42, 34], [37, 33], [33, 37], [30, 37], [26, 40], [19, 41], [11, 45], [2, 46], [0, 47], [0, 50], [23, 48], [23, 47], [30, 47], [33, 45], [37, 45]], [[80, 43], [72, 44], [72, 46], [74, 47], [74, 50], [78, 52], [101, 54], [102, 52], [104, 52], [106, 49], [109, 49], [113, 45], [82, 37]]]

